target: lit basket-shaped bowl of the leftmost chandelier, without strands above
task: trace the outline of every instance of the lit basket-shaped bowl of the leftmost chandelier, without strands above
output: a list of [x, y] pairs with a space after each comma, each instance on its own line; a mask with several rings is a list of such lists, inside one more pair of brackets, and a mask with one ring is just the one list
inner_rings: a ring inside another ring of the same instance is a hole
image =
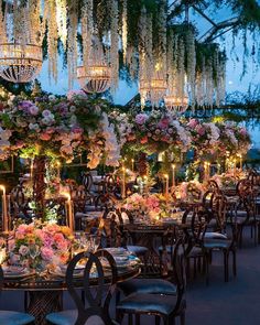
[[0, 43], [0, 76], [11, 83], [30, 83], [40, 73], [42, 47], [34, 44]]

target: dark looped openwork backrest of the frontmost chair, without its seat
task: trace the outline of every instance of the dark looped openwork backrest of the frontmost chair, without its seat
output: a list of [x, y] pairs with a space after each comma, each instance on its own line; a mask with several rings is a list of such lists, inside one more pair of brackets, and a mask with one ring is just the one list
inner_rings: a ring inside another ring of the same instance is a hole
[[[79, 261], [85, 261], [83, 274], [84, 301], [80, 291], [75, 286], [74, 271]], [[106, 272], [102, 262], [106, 262]], [[95, 267], [95, 279], [93, 268]], [[107, 273], [109, 270], [109, 275]], [[109, 305], [117, 283], [117, 267], [112, 256], [106, 250], [98, 250], [95, 254], [90, 252], [80, 252], [75, 256], [67, 267], [66, 284], [68, 292], [74, 300], [78, 316], [75, 325], [85, 325], [91, 316], [98, 316], [104, 325], [112, 325], [109, 315]], [[95, 288], [93, 288], [95, 281]], [[96, 295], [94, 294], [96, 291]]]

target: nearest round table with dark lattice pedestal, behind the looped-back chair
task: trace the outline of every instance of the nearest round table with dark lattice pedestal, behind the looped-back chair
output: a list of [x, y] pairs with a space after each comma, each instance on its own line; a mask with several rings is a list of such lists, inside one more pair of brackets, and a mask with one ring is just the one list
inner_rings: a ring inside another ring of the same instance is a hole
[[[133, 279], [140, 274], [140, 264], [118, 268], [117, 282]], [[110, 274], [105, 273], [105, 281], [109, 283]], [[91, 286], [97, 285], [97, 278], [90, 278]], [[83, 278], [75, 278], [75, 286], [83, 289]], [[65, 274], [51, 271], [41, 274], [29, 273], [24, 277], [4, 277], [4, 291], [23, 291], [24, 310], [35, 317], [35, 325], [44, 325], [45, 316], [52, 312], [63, 310], [63, 293], [67, 290]]]

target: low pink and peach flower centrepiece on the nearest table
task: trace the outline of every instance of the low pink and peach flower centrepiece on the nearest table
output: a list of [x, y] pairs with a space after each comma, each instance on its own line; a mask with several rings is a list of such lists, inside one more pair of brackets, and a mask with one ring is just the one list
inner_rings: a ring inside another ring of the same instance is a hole
[[71, 257], [74, 237], [68, 227], [34, 221], [21, 224], [8, 240], [8, 262], [43, 270], [65, 264]]

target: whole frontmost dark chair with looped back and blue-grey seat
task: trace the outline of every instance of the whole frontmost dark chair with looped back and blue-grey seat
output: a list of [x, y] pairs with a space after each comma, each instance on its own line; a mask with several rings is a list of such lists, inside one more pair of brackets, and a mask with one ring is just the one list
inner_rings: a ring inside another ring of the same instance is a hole
[[[102, 261], [106, 261], [106, 270]], [[76, 266], [85, 261], [83, 273], [84, 296], [77, 290], [79, 279], [76, 277]], [[95, 279], [91, 269], [96, 268]], [[105, 275], [110, 272], [110, 277]], [[117, 283], [117, 268], [112, 256], [106, 250], [98, 250], [95, 254], [80, 252], [69, 262], [66, 271], [68, 293], [76, 304], [76, 310], [52, 313], [46, 316], [47, 324], [54, 325], [116, 325], [109, 315], [109, 305]], [[91, 288], [95, 285], [94, 288]], [[96, 295], [94, 295], [96, 291]], [[84, 299], [83, 299], [84, 297]]]

